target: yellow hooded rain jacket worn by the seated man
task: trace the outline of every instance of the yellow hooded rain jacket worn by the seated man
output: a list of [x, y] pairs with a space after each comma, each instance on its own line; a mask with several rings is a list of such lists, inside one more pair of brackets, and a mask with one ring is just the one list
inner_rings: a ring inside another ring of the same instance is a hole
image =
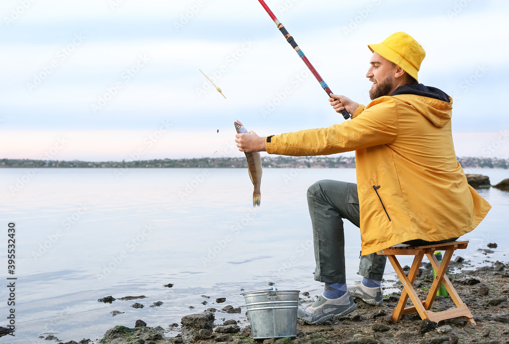
[[491, 209], [456, 159], [452, 99], [440, 90], [449, 102], [397, 91], [359, 105], [351, 121], [266, 138], [270, 154], [355, 151], [363, 255], [413, 239], [460, 237]]

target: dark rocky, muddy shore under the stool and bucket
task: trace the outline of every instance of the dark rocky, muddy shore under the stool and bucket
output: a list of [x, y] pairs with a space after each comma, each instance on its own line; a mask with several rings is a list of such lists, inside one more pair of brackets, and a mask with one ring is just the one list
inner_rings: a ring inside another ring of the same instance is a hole
[[[322, 325], [297, 325], [297, 337], [253, 340], [246, 307], [227, 305], [207, 308], [182, 318], [180, 324], [168, 324], [166, 328], [147, 326], [142, 320], [136, 324], [125, 324], [109, 329], [102, 339], [66, 341], [65, 344], [169, 344], [169, 343], [263, 343], [263, 344], [376, 344], [376, 343], [509, 343], [509, 264], [489, 261], [491, 248], [480, 249], [486, 254], [483, 266], [474, 268], [470, 261], [460, 256], [451, 261], [447, 276], [453, 282], [463, 302], [467, 304], [476, 324], [469, 324], [463, 318], [442, 321], [438, 324], [422, 321], [417, 314], [403, 316], [393, 324], [390, 319], [392, 309], [397, 305], [402, 285], [397, 280], [384, 281], [382, 286], [399, 290], [384, 295], [381, 306], [371, 306], [356, 300], [357, 309], [345, 317], [334, 318]], [[409, 268], [406, 270], [408, 271]], [[422, 263], [414, 288], [420, 298], [425, 298], [433, 281], [430, 263]], [[387, 294], [387, 293], [384, 293]], [[300, 294], [299, 306], [307, 306], [316, 299], [308, 292]], [[132, 299], [144, 296], [129, 297]], [[106, 297], [100, 302], [112, 302]], [[222, 300], [216, 300], [218, 306]], [[409, 301], [410, 302], [410, 301]], [[154, 303], [152, 306], [161, 306]], [[134, 304], [136, 305], [136, 304]], [[437, 296], [435, 311], [454, 307], [450, 297]], [[135, 307], [135, 306], [133, 306]], [[197, 310], [197, 309], [196, 309]], [[241, 313], [239, 320], [225, 321], [224, 313]], [[116, 314], [112, 314], [115, 316]], [[49, 335], [44, 338], [59, 343], [64, 341]]]

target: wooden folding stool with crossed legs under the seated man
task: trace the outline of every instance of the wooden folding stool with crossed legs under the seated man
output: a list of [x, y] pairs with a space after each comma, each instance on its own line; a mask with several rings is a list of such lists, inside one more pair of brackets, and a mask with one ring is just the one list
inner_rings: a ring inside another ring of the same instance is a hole
[[[454, 289], [453, 284], [451, 284], [450, 280], [445, 275], [445, 271], [447, 270], [447, 266], [449, 265], [450, 259], [453, 256], [453, 252], [457, 249], [466, 248], [467, 244], [468, 241], [453, 241], [444, 244], [428, 246], [409, 246], [399, 244], [377, 252], [377, 254], [387, 256], [390, 264], [392, 264], [392, 267], [398, 274], [401, 283], [403, 283], [403, 291], [401, 293], [400, 301], [398, 302], [398, 306], [396, 306], [392, 311], [392, 321], [394, 323], [400, 320], [403, 314], [412, 314], [417, 312], [419, 313], [419, 316], [422, 320], [429, 319], [436, 323], [441, 320], [464, 317], [469, 323], [475, 324], [472, 313], [468, 309], [467, 305], [461, 301], [461, 298]], [[434, 254], [437, 250], [445, 250], [441, 264], [438, 263]], [[415, 255], [408, 276], [405, 274], [405, 272], [403, 272], [400, 263], [396, 259], [396, 255], [398, 254]], [[431, 288], [426, 301], [421, 301], [413, 289], [413, 283], [415, 281], [415, 277], [417, 276], [417, 272], [419, 271], [422, 258], [425, 254], [437, 272], [437, 276], [434, 278], [433, 283], [431, 284]], [[433, 304], [433, 300], [437, 294], [437, 290], [440, 287], [440, 283], [444, 284], [445, 289], [449, 293], [451, 299], [453, 299], [457, 308], [450, 308], [440, 312], [434, 312], [430, 310], [431, 305]], [[410, 300], [412, 300], [413, 306], [405, 307], [409, 297]]]

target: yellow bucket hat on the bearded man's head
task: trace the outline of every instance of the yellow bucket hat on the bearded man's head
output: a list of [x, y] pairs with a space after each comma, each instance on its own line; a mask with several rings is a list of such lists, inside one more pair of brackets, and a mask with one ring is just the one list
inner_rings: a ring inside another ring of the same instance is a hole
[[420, 64], [426, 51], [412, 36], [397, 32], [387, 37], [382, 43], [368, 44], [371, 52], [378, 52], [384, 59], [397, 64], [417, 80]]

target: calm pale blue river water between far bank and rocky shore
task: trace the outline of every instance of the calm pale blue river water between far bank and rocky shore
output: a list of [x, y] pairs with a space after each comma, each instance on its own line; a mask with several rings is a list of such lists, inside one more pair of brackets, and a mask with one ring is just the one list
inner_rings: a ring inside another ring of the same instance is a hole
[[[487, 175], [492, 184], [509, 178], [503, 169], [466, 172]], [[320, 179], [355, 182], [355, 169], [263, 173], [261, 207], [253, 210], [245, 169], [0, 169], [0, 326], [8, 325], [11, 308], [16, 326], [15, 337], [0, 342], [47, 343], [38, 337], [48, 333], [63, 341], [94, 340], [137, 319], [167, 328], [209, 307], [244, 306], [242, 290], [265, 289], [268, 282], [318, 295], [306, 190]], [[493, 208], [462, 237], [470, 244], [459, 254], [474, 265], [506, 261], [509, 192], [479, 193]], [[9, 223], [15, 223], [14, 274], [7, 266]], [[352, 283], [359, 280], [360, 235], [350, 223], [345, 240]], [[478, 249], [489, 242], [498, 248], [486, 256]], [[394, 279], [390, 264], [385, 278]], [[15, 305], [8, 306], [12, 281]], [[163, 286], [168, 283], [173, 287]], [[147, 298], [97, 302], [108, 295]], [[216, 304], [219, 297], [227, 301]], [[149, 307], [156, 301], [163, 304]], [[132, 308], [135, 302], [145, 307]], [[112, 317], [112, 310], [124, 313]]]

